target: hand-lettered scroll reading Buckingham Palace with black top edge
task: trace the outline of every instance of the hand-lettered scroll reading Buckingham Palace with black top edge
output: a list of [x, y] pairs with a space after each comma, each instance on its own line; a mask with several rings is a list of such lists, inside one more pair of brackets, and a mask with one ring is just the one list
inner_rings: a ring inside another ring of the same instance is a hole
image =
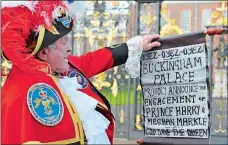
[[160, 47], [141, 56], [144, 136], [208, 139], [210, 88], [204, 33], [158, 41]]

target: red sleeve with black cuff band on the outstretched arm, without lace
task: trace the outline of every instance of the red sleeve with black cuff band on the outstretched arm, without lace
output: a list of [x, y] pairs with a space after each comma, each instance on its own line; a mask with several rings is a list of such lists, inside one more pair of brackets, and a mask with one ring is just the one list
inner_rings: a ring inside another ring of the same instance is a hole
[[82, 56], [68, 56], [70, 64], [80, 69], [88, 78], [114, 66], [124, 64], [128, 57], [126, 43], [101, 48]]

